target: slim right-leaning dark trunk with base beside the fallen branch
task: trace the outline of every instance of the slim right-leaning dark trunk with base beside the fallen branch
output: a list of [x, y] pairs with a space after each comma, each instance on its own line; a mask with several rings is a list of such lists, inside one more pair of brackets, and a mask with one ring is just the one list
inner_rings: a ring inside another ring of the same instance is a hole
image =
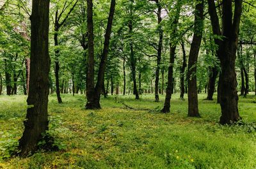
[[180, 9], [181, 9], [181, 4], [180, 1], [177, 1], [176, 4], [176, 13], [175, 13], [175, 18], [173, 20], [173, 25], [170, 28], [171, 29], [171, 35], [170, 39], [173, 40], [170, 42], [170, 60], [169, 60], [169, 67], [168, 67], [168, 82], [167, 82], [167, 87], [166, 87], [166, 95], [164, 99], [164, 107], [161, 110], [163, 113], [168, 113], [170, 112], [170, 101], [172, 98], [172, 85], [173, 85], [173, 64], [174, 64], [174, 59], [175, 59], [175, 50], [177, 47], [177, 41], [174, 41], [175, 34], [177, 33], [177, 26], [179, 23], [179, 17], [180, 17]]

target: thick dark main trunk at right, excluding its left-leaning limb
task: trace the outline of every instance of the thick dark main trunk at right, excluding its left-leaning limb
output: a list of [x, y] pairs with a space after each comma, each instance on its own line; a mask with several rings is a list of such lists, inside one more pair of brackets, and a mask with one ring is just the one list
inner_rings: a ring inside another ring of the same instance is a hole
[[237, 108], [238, 96], [235, 69], [241, 13], [242, 0], [235, 1], [234, 16], [232, 15], [232, 0], [223, 1], [223, 36], [225, 38], [221, 45], [223, 55], [220, 58], [221, 124], [230, 124], [241, 119]]

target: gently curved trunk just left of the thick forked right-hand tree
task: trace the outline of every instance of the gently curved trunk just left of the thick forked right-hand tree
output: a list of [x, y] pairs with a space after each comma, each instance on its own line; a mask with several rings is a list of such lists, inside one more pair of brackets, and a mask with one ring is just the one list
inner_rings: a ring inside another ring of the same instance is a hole
[[194, 36], [189, 52], [188, 61], [188, 116], [200, 117], [198, 112], [198, 97], [196, 86], [196, 64], [202, 41], [204, 29], [204, 0], [200, 0], [195, 7], [195, 28]]

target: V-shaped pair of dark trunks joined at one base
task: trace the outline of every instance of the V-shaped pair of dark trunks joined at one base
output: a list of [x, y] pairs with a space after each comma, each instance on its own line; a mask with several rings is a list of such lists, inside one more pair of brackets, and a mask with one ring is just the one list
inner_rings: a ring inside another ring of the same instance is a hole
[[[113, 23], [113, 18], [114, 18], [114, 13], [115, 13], [115, 5], [116, 1], [111, 0], [110, 4], [110, 9], [109, 9], [109, 16], [108, 16], [108, 25], [106, 29], [106, 34], [105, 34], [105, 41], [104, 41], [104, 48], [102, 52], [102, 56], [100, 59], [100, 65], [99, 65], [99, 72], [98, 72], [98, 77], [97, 77], [97, 84], [94, 86], [94, 82], [89, 82], [89, 80], [93, 80], [94, 78], [94, 51], [93, 51], [93, 11], [92, 11], [92, 0], [87, 1], [87, 30], [88, 30], [88, 60], [90, 58], [90, 61], [88, 61], [88, 64], [92, 64], [89, 70], [89, 65], [88, 65], [88, 80], [87, 82], [90, 83], [88, 86], [88, 94], [87, 95], [87, 103], [86, 103], [86, 108], [87, 109], [97, 109], [100, 108], [100, 93], [102, 89], [102, 82], [104, 80], [104, 73], [106, 70], [106, 64], [107, 64], [107, 59], [108, 59], [108, 50], [109, 50], [109, 41], [110, 41], [110, 35], [111, 35], [111, 29], [112, 29], [112, 23]], [[90, 49], [90, 50], [89, 50]]]

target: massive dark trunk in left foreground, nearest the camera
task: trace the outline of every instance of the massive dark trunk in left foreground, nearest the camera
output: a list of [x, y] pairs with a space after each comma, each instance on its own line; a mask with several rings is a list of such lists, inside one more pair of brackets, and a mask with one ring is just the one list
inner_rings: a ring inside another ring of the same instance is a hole
[[31, 15], [31, 75], [24, 133], [19, 140], [20, 155], [35, 152], [42, 133], [48, 130], [49, 95], [49, 0], [33, 0]]

